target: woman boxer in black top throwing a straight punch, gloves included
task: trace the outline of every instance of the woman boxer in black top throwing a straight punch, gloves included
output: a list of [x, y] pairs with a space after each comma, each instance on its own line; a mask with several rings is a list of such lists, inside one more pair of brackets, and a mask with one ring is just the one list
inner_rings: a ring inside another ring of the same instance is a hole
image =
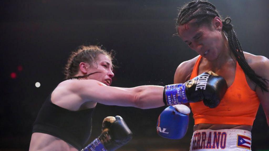
[[[80, 46], [72, 53], [65, 68], [66, 80], [51, 92], [34, 123], [29, 150], [83, 149], [91, 133], [91, 113], [97, 103], [149, 109], [180, 104], [182, 100], [191, 102], [206, 97], [199, 95], [200, 91], [195, 89], [185, 91], [182, 89], [182, 85], [185, 84], [170, 85], [166, 89], [153, 85], [134, 88], [111, 87], [112, 77], [114, 77], [112, 58], [99, 46]], [[203, 90], [204, 94], [206, 91], [216, 95], [221, 93], [222, 97], [222, 92], [225, 90], [218, 92], [218, 89], [210, 89], [210, 87], [222, 87], [223, 83], [226, 84], [223, 78], [213, 76], [212, 82], [208, 81], [207, 88]], [[225, 88], [224, 86], [220, 89]], [[195, 95], [195, 97], [188, 99], [178, 96], [177, 100], [163, 98], [164, 94], [172, 96], [179, 92], [179, 89], [180, 92], [187, 92], [189, 94], [187, 96]], [[220, 100], [208, 100], [208, 102], [218, 101]], [[100, 137], [84, 150], [92, 150], [92, 146], [95, 146], [94, 150], [97, 151], [111, 151], [130, 140], [131, 132], [122, 118], [116, 116], [108, 123], [111, 124], [103, 128]]]

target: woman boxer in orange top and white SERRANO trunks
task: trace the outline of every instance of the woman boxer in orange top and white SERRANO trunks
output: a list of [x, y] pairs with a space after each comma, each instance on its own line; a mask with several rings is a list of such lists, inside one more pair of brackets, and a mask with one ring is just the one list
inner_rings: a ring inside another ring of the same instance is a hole
[[212, 70], [228, 84], [218, 107], [190, 103], [195, 123], [190, 150], [251, 150], [250, 131], [260, 103], [269, 125], [268, 58], [243, 52], [231, 19], [222, 20], [207, 1], [183, 6], [176, 30], [199, 56], [178, 66], [174, 83]]

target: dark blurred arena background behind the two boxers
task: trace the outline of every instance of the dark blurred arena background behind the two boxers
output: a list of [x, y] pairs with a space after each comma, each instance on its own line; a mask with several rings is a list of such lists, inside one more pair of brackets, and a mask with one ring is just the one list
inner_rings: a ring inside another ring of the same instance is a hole
[[[67, 58], [79, 45], [98, 44], [117, 52], [119, 68], [114, 71], [112, 86], [172, 84], [176, 67], [197, 55], [179, 37], [173, 37], [178, 7], [186, 2], [1, 1], [0, 150], [29, 148], [37, 113], [52, 89], [63, 81]], [[269, 1], [210, 2], [223, 17], [232, 18], [244, 51], [269, 57]], [[19, 71], [18, 66], [23, 70]], [[16, 78], [10, 77], [12, 72]], [[36, 82], [41, 87], [36, 88]], [[185, 138], [164, 139], [156, 133], [157, 118], [163, 109], [98, 104], [89, 142], [100, 134], [104, 117], [121, 115], [133, 132], [132, 141], [121, 150], [188, 150], [192, 117]], [[269, 149], [268, 141], [269, 129], [260, 107], [252, 130], [252, 150]]]

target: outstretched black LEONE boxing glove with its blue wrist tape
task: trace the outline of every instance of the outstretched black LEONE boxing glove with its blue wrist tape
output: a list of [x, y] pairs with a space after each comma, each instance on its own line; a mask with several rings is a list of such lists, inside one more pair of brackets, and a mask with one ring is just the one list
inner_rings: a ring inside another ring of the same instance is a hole
[[166, 85], [165, 105], [193, 103], [203, 100], [204, 105], [214, 108], [220, 104], [228, 86], [226, 80], [212, 71], [204, 72], [183, 84]]

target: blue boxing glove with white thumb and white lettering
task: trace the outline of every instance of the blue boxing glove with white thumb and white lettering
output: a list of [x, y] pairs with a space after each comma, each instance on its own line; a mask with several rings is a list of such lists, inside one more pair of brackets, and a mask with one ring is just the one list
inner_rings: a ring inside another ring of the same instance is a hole
[[190, 109], [186, 105], [169, 106], [162, 111], [157, 122], [157, 133], [169, 139], [185, 136], [189, 124]]

